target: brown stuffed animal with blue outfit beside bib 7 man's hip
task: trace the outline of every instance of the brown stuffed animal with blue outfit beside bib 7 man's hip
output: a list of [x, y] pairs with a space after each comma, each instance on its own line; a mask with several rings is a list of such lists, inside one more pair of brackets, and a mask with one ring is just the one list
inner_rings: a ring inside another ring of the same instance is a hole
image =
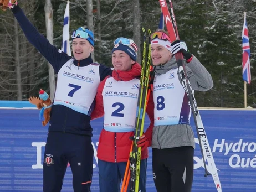
[[40, 110], [39, 113], [39, 120], [42, 121], [43, 126], [46, 126], [50, 120], [50, 110], [52, 107], [52, 101], [50, 100], [49, 95], [42, 89], [39, 91], [39, 98], [38, 97], [30, 97], [28, 101], [37, 106]]

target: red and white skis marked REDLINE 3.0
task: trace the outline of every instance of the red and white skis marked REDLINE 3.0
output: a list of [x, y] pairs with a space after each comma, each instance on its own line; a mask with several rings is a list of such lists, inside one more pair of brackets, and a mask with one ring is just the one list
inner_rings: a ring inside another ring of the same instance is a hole
[[[178, 36], [178, 28], [177, 28], [177, 23], [175, 20], [175, 14], [173, 12], [173, 6], [172, 6], [171, 0], [169, 0], [169, 3], [170, 3], [170, 8], [171, 8], [172, 18], [170, 16], [170, 12], [168, 10], [166, 0], [159, 0], [159, 2], [160, 2], [161, 10], [163, 13], [163, 17], [165, 18], [165, 23], [166, 23], [168, 33], [170, 35], [170, 39], [172, 41], [180, 39]], [[209, 175], [211, 173], [217, 191], [221, 192], [222, 191], [221, 182], [219, 180], [216, 164], [214, 163], [212, 151], [211, 151], [211, 148], [209, 147], [209, 142], [208, 142], [208, 138], [206, 135], [206, 130], [204, 129], [202, 118], [198, 111], [196, 99], [194, 98], [193, 91], [192, 91], [191, 85], [190, 85], [190, 81], [188, 80], [188, 77], [187, 77], [187, 72], [186, 72], [182, 53], [175, 54], [175, 58], [178, 63], [180, 77], [182, 80], [182, 86], [187, 93], [190, 107], [191, 107], [193, 117], [194, 117], [194, 123], [196, 125], [196, 131], [197, 131], [197, 135], [199, 138], [198, 140], [199, 140], [199, 145], [200, 145], [200, 149], [201, 149], [201, 153], [202, 153], [202, 157], [203, 157], [204, 168], [205, 168], [204, 176], [206, 177], [207, 175]], [[206, 160], [208, 162], [208, 170], [206, 167]]]

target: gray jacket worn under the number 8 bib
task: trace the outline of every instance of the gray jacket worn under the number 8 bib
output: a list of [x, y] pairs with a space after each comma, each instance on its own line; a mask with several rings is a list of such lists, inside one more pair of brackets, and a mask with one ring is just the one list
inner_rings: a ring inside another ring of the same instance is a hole
[[[185, 64], [185, 66], [192, 90], [207, 91], [213, 87], [211, 74], [194, 55], [190, 63]], [[155, 72], [156, 75], [161, 75], [177, 67], [176, 59], [173, 57], [165, 65], [156, 66]], [[175, 124], [153, 127], [152, 148], [165, 149], [181, 146], [195, 148], [194, 133], [190, 125]]]

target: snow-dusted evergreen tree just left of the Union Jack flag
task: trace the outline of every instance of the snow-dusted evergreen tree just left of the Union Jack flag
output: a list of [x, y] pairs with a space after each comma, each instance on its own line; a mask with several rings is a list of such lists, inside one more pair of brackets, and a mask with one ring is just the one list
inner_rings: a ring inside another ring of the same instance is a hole
[[206, 36], [199, 48], [201, 61], [209, 65], [208, 71], [214, 79], [210, 105], [238, 107], [242, 83], [238, 68], [241, 65], [241, 46], [235, 34], [235, 25], [227, 12], [228, 5], [219, 1], [214, 6], [215, 10], [207, 13]]

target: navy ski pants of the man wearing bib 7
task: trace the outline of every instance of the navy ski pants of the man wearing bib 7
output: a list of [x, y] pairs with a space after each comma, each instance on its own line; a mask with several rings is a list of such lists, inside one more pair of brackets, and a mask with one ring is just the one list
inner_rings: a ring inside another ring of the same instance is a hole
[[74, 192], [90, 192], [93, 154], [90, 136], [50, 132], [44, 152], [43, 191], [60, 192], [69, 162]]

